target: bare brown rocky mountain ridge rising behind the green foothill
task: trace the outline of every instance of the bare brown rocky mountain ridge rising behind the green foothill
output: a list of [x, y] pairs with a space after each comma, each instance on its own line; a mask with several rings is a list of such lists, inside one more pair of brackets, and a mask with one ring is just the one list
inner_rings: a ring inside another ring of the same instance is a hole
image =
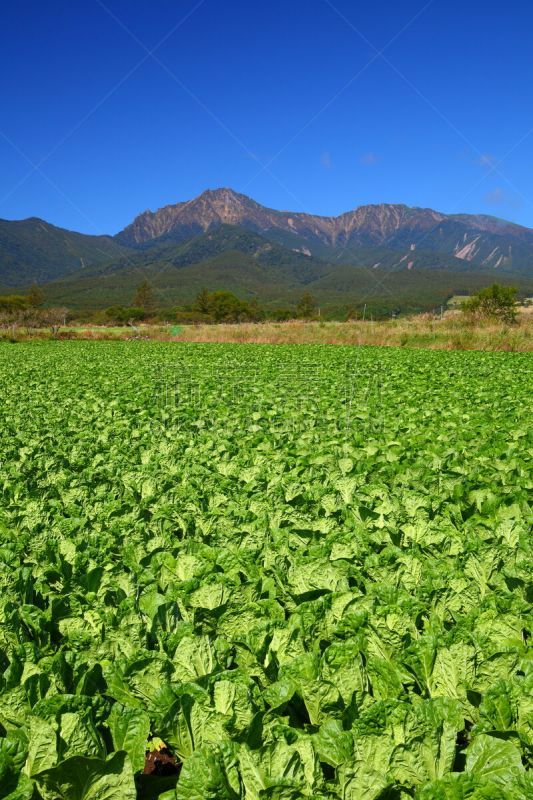
[[533, 230], [496, 217], [387, 204], [321, 217], [275, 211], [232, 189], [208, 190], [193, 200], [145, 211], [115, 238], [127, 247], [146, 248], [223, 224], [335, 261], [357, 263], [361, 248], [382, 247], [401, 253], [407, 264], [411, 253], [422, 250], [452, 259], [449, 268], [533, 275]]

